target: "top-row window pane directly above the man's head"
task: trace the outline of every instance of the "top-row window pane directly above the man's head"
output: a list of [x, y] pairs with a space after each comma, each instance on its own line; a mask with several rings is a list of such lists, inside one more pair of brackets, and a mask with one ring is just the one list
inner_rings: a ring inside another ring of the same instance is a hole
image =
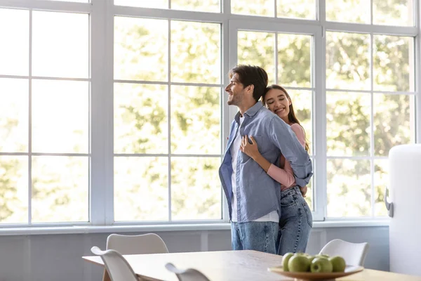
[[231, 13], [275, 16], [274, 0], [231, 0]]

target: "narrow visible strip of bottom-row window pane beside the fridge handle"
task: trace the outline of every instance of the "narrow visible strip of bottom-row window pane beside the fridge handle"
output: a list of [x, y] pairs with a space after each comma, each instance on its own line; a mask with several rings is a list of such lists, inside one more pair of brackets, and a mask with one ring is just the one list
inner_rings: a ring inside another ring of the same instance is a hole
[[387, 216], [385, 205], [385, 188], [389, 188], [389, 161], [387, 159], [374, 160], [374, 214]]

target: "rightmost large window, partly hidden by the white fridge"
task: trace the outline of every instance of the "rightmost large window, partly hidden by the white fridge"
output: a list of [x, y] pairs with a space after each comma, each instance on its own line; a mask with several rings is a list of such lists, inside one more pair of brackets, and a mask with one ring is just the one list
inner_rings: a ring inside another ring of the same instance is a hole
[[385, 216], [387, 155], [415, 141], [413, 37], [326, 33], [327, 215]]

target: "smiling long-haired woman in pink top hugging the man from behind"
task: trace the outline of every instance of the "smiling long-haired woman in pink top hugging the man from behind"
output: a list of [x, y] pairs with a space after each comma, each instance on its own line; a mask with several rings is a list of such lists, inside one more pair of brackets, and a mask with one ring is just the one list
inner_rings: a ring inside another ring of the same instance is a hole
[[[278, 85], [268, 86], [263, 93], [262, 103], [291, 126], [298, 141], [308, 151], [305, 131], [295, 117], [293, 103], [287, 91]], [[304, 199], [307, 186], [300, 188], [295, 184], [293, 169], [285, 157], [281, 155], [279, 166], [271, 164], [260, 155], [255, 139], [250, 137], [250, 140], [252, 143], [248, 142], [248, 136], [243, 136], [240, 150], [253, 158], [275, 181], [281, 183], [278, 254], [305, 252], [313, 226], [312, 211]]]

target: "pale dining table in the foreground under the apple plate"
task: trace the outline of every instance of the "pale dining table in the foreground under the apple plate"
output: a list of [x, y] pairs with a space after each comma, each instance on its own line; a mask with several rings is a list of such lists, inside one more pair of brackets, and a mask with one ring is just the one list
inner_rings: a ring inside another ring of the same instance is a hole
[[[100, 256], [83, 256], [104, 266]], [[138, 277], [145, 280], [177, 281], [174, 273], [166, 270], [168, 262], [181, 269], [196, 268], [204, 273], [211, 281], [234, 280], [292, 280], [276, 273], [269, 272], [267, 268], [281, 265], [282, 256], [266, 254], [260, 251], [199, 251], [192, 253], [168, 254], [135, 254], [124, 255]], [[421, 281], [421, 277], [389, 273], [380, 270], [364, 269], [347, 277], [338, 278], [349, 281]]]

